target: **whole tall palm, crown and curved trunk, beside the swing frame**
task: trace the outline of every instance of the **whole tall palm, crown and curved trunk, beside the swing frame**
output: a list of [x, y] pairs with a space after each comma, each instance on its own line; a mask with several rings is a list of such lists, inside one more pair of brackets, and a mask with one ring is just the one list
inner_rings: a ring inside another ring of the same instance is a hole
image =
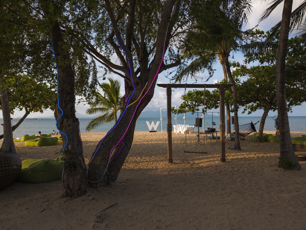
[[[206, 4], [207, 3], [207, 4]], [[181, 81], [182, 77], [195, 72], [200, 72], [219, 60], [223, 68], [224, 79], [227, 78], [232, 85], [233, 108], [235, 116], [236, 139], [234, 149], [241, 150], [239, 139], [239, 122], [237, 106], [237, 88], [233, 79], [229, 57], [232, 51], [237, 51], [242, 40], [242, 26], [247, 22], [251, 13], [251, 4], [248, 0], [221, 1], [213, 4], [206, 2], [203, 4], [206, 10], [205, 15], [199, 15], [196, 19], [197, 26], [194, 30], [188, 32], [186, 45], [183, 49], [185, 56], [195, 60], [180, 75], [176, 81]], [[213, 5], [211, 5], [213, 4]], [[207, 13], [207, 8], [210, 9]], [[211, 13], [209, 13], [211, 12]], [[192, 47], [190, 50], [188, 47]], [[229, 133], [230, 111], [227, 105], [227, 128]]]

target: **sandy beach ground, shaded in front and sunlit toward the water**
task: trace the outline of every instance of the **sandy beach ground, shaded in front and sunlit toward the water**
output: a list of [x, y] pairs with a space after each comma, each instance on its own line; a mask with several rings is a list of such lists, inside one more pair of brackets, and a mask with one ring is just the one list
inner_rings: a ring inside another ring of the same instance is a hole
[[[105, 134], [81, 133], [86, 162]], [[222, 163], [220, 140], [198, 145], [196, 134], [172, 133], [172, 141], [171, 164], [166, 132], [135, 132], [121, 182], [80, 198], [62, 198], [62, 180], [14, 182], [0, 191], [0, 229], [305, 229], [306, 161], [300, 171], [278, 168], [279, 143], [246, 138], [238, 151], [226, 140]], [[15, 146], [21, 160], [54, 159], [62, 147]]]

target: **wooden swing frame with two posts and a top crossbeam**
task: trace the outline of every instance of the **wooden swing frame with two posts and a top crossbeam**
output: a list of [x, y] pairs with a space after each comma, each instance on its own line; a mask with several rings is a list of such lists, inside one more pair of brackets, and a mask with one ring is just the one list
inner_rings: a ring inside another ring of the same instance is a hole
[[172, 158], [172, 119], [171, 119], [171, 95], [172, 88], [218, 88], [220, 96], [220, 161], [225, 162], [225, 88], [232, 85], [229, 84], [157, 84], [162, 88], [167, 88], [167, 135], [168, 135], [168, 163], [173, 163]]

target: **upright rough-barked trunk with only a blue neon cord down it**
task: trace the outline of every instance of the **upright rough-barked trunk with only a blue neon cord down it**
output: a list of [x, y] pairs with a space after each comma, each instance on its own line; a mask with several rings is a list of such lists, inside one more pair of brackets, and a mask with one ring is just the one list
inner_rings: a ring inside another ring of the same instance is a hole
[[79, 135], [79, 121], [75, 116], [74, 73], [67, 52], [62, 45], [58, 21], [51, 29], [51, 41], [58, 66], [58, 103], [54, 111], [57, 128], [63, 137], [63, 197], [79, 197], [88, 190], [87, 169]]

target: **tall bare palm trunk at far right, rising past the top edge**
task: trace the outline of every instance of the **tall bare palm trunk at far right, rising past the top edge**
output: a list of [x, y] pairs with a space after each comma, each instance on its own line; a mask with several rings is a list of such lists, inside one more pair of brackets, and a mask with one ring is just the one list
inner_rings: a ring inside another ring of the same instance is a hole
[[[276, 99], [277, 99], [277, 108], [278, 108], [278, 121], [279, 121], [279, 140], [280, 140], [280, 158], [289, 159], [297, 163], [295, 169], [300, 170], [300, 163], [297, 161], [297, 157], [294, 153], [288, 112], [287, 112], [287, 103], [286, 103], [286, 80], [285, 80], [285, 63], [286, 63], [286, 51], [288, 45], [289, 37], [289, 26], [290, 26], [290, 16], [292, 10], [292, 0], [284, 1], [284, 8], [282, 13], [282, 23], [279, 32], [278, 39], [278, 50], [276, 56]], [[279, 166], [282, 165], [282, 160], [279, 161]]]

